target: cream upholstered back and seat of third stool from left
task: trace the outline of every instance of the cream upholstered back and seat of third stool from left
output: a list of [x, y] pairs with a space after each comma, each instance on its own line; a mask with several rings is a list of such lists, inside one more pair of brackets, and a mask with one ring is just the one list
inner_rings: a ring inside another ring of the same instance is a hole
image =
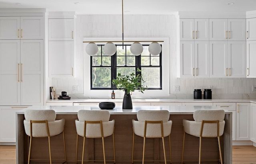
[[[171, 133], [172, 121], [169, 121], [170, 113], [167, 110], [139, 110], [137, 112], [138, 121], [132, 119], [134, 133], [144, 137], [145, 121], [163, 121], [164, 137]], [[145, 137], [162, 137], [160, 123], [148, 123]]]

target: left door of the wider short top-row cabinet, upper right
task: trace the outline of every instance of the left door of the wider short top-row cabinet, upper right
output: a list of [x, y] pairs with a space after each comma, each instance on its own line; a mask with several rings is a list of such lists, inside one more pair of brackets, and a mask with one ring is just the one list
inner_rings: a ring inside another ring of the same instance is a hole
[[210, 19], [209, 20], [209, 39], [210, 41], [226, 41], [228, 39], [228, 20]]

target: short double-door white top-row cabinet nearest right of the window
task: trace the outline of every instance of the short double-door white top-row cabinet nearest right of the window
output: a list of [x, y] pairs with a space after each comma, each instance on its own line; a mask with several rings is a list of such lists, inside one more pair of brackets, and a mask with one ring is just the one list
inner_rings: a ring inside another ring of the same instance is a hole
[[209, 19], [180, 19], [180, 41], [208, 41]]

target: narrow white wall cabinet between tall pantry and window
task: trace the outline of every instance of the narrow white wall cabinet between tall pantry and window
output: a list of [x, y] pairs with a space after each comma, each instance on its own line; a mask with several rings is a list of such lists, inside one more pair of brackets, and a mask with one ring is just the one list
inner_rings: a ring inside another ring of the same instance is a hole
[[49, 77], [74, 77], [74, 16], [48, 19]]

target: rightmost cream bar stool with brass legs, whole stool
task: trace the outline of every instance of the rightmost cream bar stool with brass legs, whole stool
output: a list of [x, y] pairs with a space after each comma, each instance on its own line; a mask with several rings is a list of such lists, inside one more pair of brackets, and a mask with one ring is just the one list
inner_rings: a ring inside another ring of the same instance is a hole
[[[201, 147], [202, 147], [202, 137], [217, 137], [218, 138], [218, 147], [219, 147], [219, 161], [222, 164], [222, 154], [220, 148], [220, 136], [224, 133], [225, 126], [225, 111], [224, 110], [196, 110], [193, 114], [195, 121], [183, 120], [183, 146], [182, 146], [182, 163], [183, 161], [192, 161], [192, 160], [184, 160], [184, 141], [185, 141], [185, 133], [200, 137], [199, 140], [199, 160], [201, 161]], [[207, 160], [208, 161], [208, 160]], [[216, 161], [216, 160], [213, 160]]]

